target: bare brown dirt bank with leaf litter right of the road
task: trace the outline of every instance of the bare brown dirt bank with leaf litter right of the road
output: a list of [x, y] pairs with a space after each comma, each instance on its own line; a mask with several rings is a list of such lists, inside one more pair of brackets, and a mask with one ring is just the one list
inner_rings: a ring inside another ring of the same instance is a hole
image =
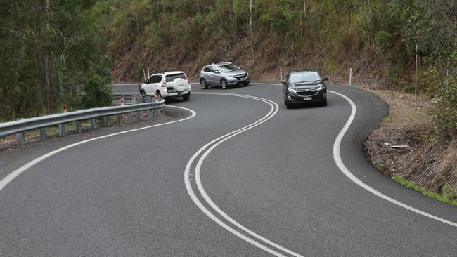
[[456, 193], [457, 142], [437, 138], [428, 114], [430, 98], [420, 95], [415, 102], [412, 94], [373, 92], [387, 102], [390, 114], [366, 140], [368, 159], [387, 176], [400, 176], [439, 193], [447, 184]]

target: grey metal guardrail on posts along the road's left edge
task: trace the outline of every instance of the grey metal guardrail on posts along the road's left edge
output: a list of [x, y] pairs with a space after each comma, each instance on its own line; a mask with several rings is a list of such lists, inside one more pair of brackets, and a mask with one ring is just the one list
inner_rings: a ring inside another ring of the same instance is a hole
[[[122, 96], [124, 98], [124, 96]], [[138, 98], [139, 102], [140, 98]], [[150, 99], [148, 99], [150, 100]], [[46, 140], [47, 126], [59, 126], [59, 135], [65, 136], [65, 124], [76, 122], [77, 132], [82, 131], [82, 121], [92, 119], [91, 126], [96, 128], [96, 118], [104, 117], [105, 124], [109, 124], [109, 117], [117, 115], [118, 124], [122, 124], [122, 114], [128, 114], [130, 124], [133, 124], [133, 113], [136, 112], [136, 119], [139, 121], [140, 112], [148, 111], [150, 118], [156, 117], [160, 109], [165, 106], [165, 100], [152, 103], [137, 103], [133, 105], [121, 105], [112, 107], [91, 108], [87, 110], [79, 110], [75, 112], [64, 112], [60, 114], [52, 114], [30, 119], [20, 119], [18, 121], [10, 121], [0, 124], [0, 138], [18, 134], [18, 143], [21, 146], [25, 145], [24, 132], [34, 129], [40, 129], [40, 139]]]

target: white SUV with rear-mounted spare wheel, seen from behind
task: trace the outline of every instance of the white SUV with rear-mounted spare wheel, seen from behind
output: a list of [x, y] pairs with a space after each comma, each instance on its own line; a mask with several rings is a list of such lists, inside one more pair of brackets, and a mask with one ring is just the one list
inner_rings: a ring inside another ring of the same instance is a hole
[[146, 98], [146, 95], [154, 96], [157, 93], [164, 99], [182, 96], [184, 100], [189, 100], [191, 97], [190, 82], [184, 72], [156, 73], [150, 75], [139, 89], [143, 99]]

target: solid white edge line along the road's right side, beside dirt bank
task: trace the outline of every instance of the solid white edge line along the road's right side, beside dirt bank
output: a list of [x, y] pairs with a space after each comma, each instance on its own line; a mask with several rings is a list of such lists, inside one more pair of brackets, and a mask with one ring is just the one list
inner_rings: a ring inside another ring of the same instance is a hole
[[398, 206], [401, 206], [404, 209], [408, 209], [409, 211], [413, 211], [422, 216], [432, 218], [434, 220], [438, 220], [442, 223], [446, 223], [448, 225], [451, 225], [451, 226], [457, 228], [457, 223], [453, 223], [452, 221], [445, 220], [444, 218], [439, 218], [430, 213], [426, 213], [425, 211], [420, 211], [419, 209], [409, 206], [408, 204], [404, 204], [402, 202], [397, 201], [396, 199], [393, 199], [392, 197], [382, 194], [382, 192], [379, 192], [378, 190], [375, 190], [373, 187], [367, 185], [366, 183], [363, 183], [361, 180], [359, 180], [359, 178], [354, 176], [354, 174], [352, 174], [351, 171], [349, 171], [349, 169], [346, 168], [345, 164], [342, 162], [342, 159], [341, 159], [340, 145], [341, 145], [342, 138], [345, 136], [346, 131], [349, 129], [349, 126], [351, 126], [352, 121], [354, 121], [354, 117], [356, 116], [357, 107], [356, 107], [355, 103], [350, 98], [348, 98], [346, 95], [343, 95], [342, 93], [337, 93], [335, 91], [329, 91], [329, 92], [335, 93], [336, 95], [340, 95], [342, 98], [345, 98], [345, 100], [347, 100], [347, 102], [349, 102], [349, 104], [352, 107], [352, 112], [351, 112], [349, 119], [347, 120], [345, 126], [342, 128], [340, 133], [338, 133], [338, 136], [335, 139], [335, 143], [333, 143], [333, 159], [335, 160], [335, 164], [337, 164], [338, 168], [340, 168], [342, 173], [344, 173], [345, 176], [347, 176], [347, 178], [352, 180], [352, 182], [356, 183], [360, 187], [363, 187], [363, 189], [367, 190], [368, 192], [371, 192], [373, 195], [376, 195], [378, 197], [381, 197], [382, 199], [392, 202], [392, 204], [397, 204]]

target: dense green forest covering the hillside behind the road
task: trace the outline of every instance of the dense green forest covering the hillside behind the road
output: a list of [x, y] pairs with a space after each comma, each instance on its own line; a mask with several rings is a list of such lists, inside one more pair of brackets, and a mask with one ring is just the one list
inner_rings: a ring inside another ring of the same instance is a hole
[[[439, 103], [439, 131], [457, 128], [454, 0], [0, 0], [0, 119], [110, 103], [111, 81], [208, 62], [236, 62], [254, 79], [314, 67]], [[416, 45], [418, 51], [416, 51]]]

